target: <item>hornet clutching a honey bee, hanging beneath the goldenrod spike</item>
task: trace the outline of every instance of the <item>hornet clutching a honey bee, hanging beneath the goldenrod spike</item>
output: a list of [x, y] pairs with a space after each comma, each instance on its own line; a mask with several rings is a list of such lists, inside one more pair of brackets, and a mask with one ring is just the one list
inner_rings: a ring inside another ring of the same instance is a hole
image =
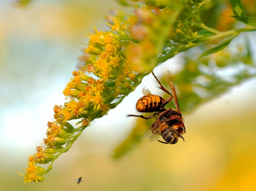
[[[153, 76], [160, 84], [160, 89], [162, 91], [168, 93], [170, 95], [169, 98], [166, 100], [158, 95], [145, 95], [142, 98], [140, 98], [136, 104], [136, 109], [139, 112], [144, 113], [150, 113], [155, 112], [148, 117], [144, 117], [143, 115], [128, 115], [133, 117], [139, 117], [143, 119], [151, 119], [155, 115], [158, 117], [156, 118], [155, 122], [149, 127], [149, 129], [146, 131], [145, 136], [150, 137], [149, 141], [155, 141], [158, 140], [161, 135], [161, 137], [166, 141], [159, 141], [161, 143], [165, 144], [176, 144], [178, 142], [178, 137], [182, 138], [183, 141], [184, 138], [181, 136], [182, 134], [186, 133], [185, 125], [183, 124], [182, 115], [180, 112], [180, 107], [178, 104], [178, 99], [174, 87], [174, 83], [172, 81], [172, 77], [170, 73], [166, 76], [166, 81], [169, 85], [169, 87], [172, 90], [172, 95], [167, 89], [165, 89], [161, 82], [156, 78], [155, 74], [152, 71]], [[144, 91], [145, 92], [145, 91]], [[149, 93], [149, 91], [147, 91]], [[172, 98], [174, 99], [175, 107], [177, 110], [172, 110], [171, 108], [165, 109], [165, 105], [169, 103]]]

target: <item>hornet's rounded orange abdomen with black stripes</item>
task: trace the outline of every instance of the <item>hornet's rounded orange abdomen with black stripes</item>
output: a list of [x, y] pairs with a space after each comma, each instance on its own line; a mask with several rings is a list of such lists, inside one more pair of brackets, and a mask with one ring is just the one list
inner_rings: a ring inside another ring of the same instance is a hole
[[139, 112], [150, 113], [159, 111], [164, 98], [158, 95], [146, 95], [140, 98], [136, 104], [136, 109]]

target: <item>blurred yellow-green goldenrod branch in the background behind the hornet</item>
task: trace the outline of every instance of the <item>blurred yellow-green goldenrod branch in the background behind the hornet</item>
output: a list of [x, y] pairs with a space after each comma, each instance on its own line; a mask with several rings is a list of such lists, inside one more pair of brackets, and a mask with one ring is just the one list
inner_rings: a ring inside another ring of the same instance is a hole
[[[188, 50], [184, 53], [182, 70], [172, 76], [177, 91], [178, 102], [182, 114], [195, 110], [242, 81], [256, 76], [256, 65], [251, 58], [250, 44], [236, 45], [236, 49], [224, 49], [218, 53], [197, 59], [200, 50]], [[163, 74], [161, 83], [167, 86]], [[164, 98], [169, 97], [168, 94]], [[175, 108], [170, 102], [165, 108]], [[148, 115], [148, 114], [146, 114]], [[155, 119], [139, 118], [130, 135], [114, 149], [114, 158], [127, 154], [144, 137]], [[185, 124], [186, 125], [186, 124]]]

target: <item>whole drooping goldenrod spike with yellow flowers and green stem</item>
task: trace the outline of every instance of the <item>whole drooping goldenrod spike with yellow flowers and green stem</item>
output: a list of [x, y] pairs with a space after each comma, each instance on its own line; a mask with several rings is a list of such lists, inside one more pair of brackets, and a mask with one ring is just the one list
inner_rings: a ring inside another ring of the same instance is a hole
[[[29, 156], [25, 175], [18, 173], [24, 176], [24, 183], [44, 181], [53, 162], [71, 148], [90, 122], [121, 103], [155, 66], [201, 43], [227, 36], [234, 38], [242, 31], [254, 29], [247, 27], [221, 33], [197, 23], [214, 32], [198, 40], [197, 32], [191, 27], [199, 17], [198, 9], [207, 1], [120, 2], [133, 6], [135, 15], [118, 14], [107, 23], [108, 31], [94, 28], [94, 33], [85, 35], [89, 44], [79, 58], [80, 70], [72, 72], [73, 77], [63, 90], [67, 102], [54, 105], [54, 120], [48, 121], [44, 145]], [[69, 124], [73, 119], [80, 119], [78, 128]], [[47, 169], [37, 166], [48, 163]]]

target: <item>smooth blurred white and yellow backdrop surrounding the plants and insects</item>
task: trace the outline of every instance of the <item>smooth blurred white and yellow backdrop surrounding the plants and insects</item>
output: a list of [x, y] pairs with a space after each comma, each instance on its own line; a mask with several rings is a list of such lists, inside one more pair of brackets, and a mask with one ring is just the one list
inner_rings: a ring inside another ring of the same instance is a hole
[[[255, 78], [185, 115], [185, 142], [145, 138], [120, 160], [110, 157], [135, 125], [126, 115], [138, 114], [141, 89], [162, 94], [152, 75], [85, 129], [44, 182], [23, 184], [16, 172], [23, 173], [28, 155], [41, 145], [54, 104], [65, 102], [62, 91], [77, 69], [84, 34], [94, 26], [107, 29], [103, 16], [112, 7], [119, 6], [111, 0], [35, 0], [27, 7], [0, 1], [0, 190], [256, 190]], [[155, 75], [176, 62], [156, 67]], [[77, 185], [73, 179], [80, 176], [85, 181]]]

